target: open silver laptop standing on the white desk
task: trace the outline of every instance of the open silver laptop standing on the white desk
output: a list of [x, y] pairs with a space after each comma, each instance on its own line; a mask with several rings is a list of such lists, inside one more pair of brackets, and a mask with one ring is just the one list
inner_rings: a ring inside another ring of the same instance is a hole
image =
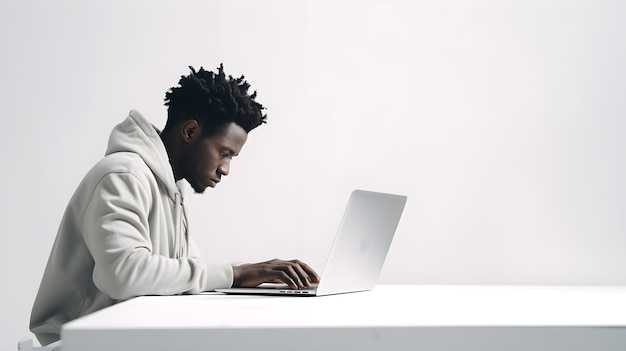
[[371, 290], [376, 285], [407, 197], [354, 190], [319, 284], [291, 289], [286, 284], [261, 284], [254, 288], [227, 288], [227, 294], [322, 296]]

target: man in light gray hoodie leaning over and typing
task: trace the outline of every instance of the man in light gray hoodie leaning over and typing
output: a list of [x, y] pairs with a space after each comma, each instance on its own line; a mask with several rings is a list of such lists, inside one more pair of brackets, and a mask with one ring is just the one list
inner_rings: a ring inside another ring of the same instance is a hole
[[165, 95], [162, 132], [136, 111], [113, 129], [67, 206], [35, 299], [30, 328], [42, 345], [59, 340], [62, 324], [134, 296], [319, 281], [298, 260], [206, 264], [189, 236], [182, 180], [198, 193], [215, 187], [266, 121], [249, 87], [222, 65], [191, 68]]

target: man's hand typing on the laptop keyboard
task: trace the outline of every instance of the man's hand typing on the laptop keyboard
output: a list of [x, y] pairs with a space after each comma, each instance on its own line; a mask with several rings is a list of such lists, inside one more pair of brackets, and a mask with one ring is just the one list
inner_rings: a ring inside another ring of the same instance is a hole
[[320, 278], [306, 263], [299, 260], [271, 260], [233, 267], [233, 287], [255, 287], [262, 283], [285, 283], [292, 289], [311, 287]]

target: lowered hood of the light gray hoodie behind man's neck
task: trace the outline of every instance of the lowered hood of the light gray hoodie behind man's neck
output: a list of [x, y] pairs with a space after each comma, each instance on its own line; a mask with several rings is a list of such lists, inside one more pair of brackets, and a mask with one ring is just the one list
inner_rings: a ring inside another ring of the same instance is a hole
[[109, 136], [105, 155], [116, 152], [132, 152], [152, 170], [172, 199], [178, 193], [172, 165], [158, 130], [139, 112], [132, 110], [128, 117], [118, 124]]

